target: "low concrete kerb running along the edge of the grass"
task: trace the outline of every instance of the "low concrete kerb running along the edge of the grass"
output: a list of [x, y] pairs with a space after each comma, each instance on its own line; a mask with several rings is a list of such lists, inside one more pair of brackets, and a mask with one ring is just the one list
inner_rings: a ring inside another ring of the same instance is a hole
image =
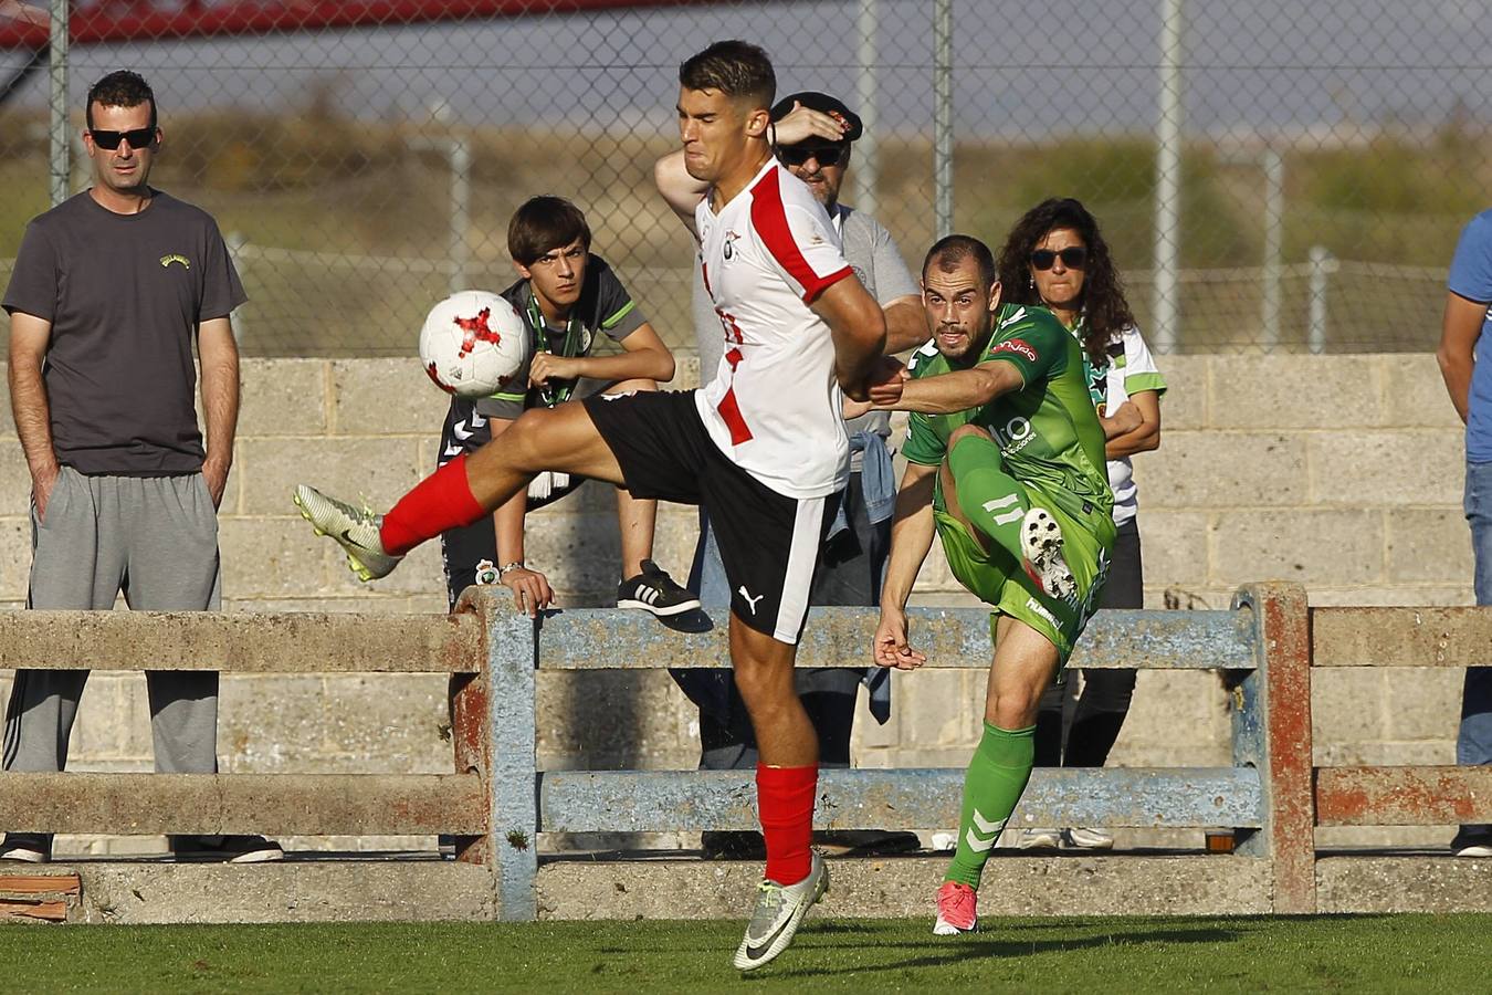
[[[830, 858], [818, 914], [927, 916], [947, 856]], [[488, 868], [434, 858], [279, 864], [85, 859], [0, 873], [0, 922], [486, 922]], [[539, 865], [539, 917], [740, 919], [753, 861], [565, 856]], [[1335, 853], [1317, 861], [1323, 913], [1489, 911], [1492, 861], [1435, 853]], [[1270, 913], [1268, 862], [1237, 855], [998, 855], [980, 914], [1237, 916]]]

